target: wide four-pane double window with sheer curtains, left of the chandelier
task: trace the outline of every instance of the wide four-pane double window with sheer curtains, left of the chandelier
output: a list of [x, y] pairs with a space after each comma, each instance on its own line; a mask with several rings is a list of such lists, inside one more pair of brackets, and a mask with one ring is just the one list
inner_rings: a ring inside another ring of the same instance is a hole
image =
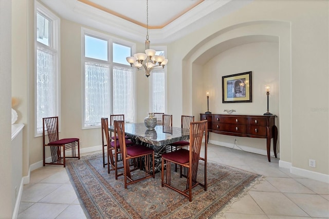
[[102, 117], [124, 114], [135, 121], [135, 70], [126, 62], [133, 44], [82, 29], [83, 128], [99, 127]]

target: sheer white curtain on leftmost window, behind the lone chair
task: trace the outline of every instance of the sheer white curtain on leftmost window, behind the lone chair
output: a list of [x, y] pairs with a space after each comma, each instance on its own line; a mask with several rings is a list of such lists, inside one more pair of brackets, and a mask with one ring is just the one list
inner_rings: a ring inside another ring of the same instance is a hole
[[36, 49], [36, 131], [42, 132], [42, 118], [56, 116], [57, 78], [54, 70], [55, 54], [51, 50]]

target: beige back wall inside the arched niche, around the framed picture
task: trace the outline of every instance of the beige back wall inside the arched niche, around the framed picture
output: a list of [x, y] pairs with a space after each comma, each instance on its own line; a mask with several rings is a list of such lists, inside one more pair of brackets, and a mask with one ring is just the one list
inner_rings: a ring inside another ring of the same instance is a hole
[[[252, 71], [252, 102], [251, 103], [222, 103], [222, 76]], [[194, 75], [196, 75], [195, 73]], [[209, 62], [205, 63], [203, 71], [203, 88], [209, 90], [209, 111], [225, 113], [224, 109], [235, 109], [233, 114], [263, 115], [267, 109], [265, 85], [271, 86], [269, 108], [272, 114], [279, 115], [279, 46], [278, 43], [248, 43], [235, 46], [221, 52]], [[193, 76], [194, 76], [193, 75]], [[197, 80], [198, 81], [198, 80]], [[199, 83], [199, 82], [197, 82]], [[205, 93], [202, 96], [202, 111], [207, 111]], [[199, 116], [198, 116], [199, 119]], [[276, 119], [278, 126], [278, 120]], [[280, 129], [280, 126], [279, 126]], [[233, 147], [235, 136], [210, 133], [210, 142]], [[280, 139], [280, 138], [279, 138]], [[247, 146], [254, 149], [248, 151], [266, 155], [266, 139], [251, 139], [237, 137], [240, 147]], [[279, 149], [279, 145], [277, 151]], [[244, 149], [247, 150], [247, 149]], [[260, 150], [262, 152], [260, 152]], [[271, 150], [271, 154], [273, 154]]]

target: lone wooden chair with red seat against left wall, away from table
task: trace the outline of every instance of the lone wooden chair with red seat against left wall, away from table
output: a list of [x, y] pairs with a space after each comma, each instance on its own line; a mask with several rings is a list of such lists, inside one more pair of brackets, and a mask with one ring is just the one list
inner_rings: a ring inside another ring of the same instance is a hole
[[[79, 138], [63, 138], [59, 139], [58, 116], [43, 118], [43, 166], [63, 165], [65, 167], [65, 158], [80, 159], [80, 143]], [[48, 135], [48, 143], [46, 143], [46, 135]], [[51, 153], [51, 162], [46, 162], [45, 148], [48, 146]], [[71, 149], [71, 156], [66, 156], [65, 151]], [[78, 150], [78, 156], [77, 152]]]

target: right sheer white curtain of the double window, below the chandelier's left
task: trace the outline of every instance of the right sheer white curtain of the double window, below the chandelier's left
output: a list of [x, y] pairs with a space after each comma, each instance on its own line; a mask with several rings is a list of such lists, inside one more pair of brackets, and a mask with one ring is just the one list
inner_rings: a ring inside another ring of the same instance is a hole
[[134, 69], [113, 66], [113, 114], [124, 114], [126, 122], [134, 121]]

